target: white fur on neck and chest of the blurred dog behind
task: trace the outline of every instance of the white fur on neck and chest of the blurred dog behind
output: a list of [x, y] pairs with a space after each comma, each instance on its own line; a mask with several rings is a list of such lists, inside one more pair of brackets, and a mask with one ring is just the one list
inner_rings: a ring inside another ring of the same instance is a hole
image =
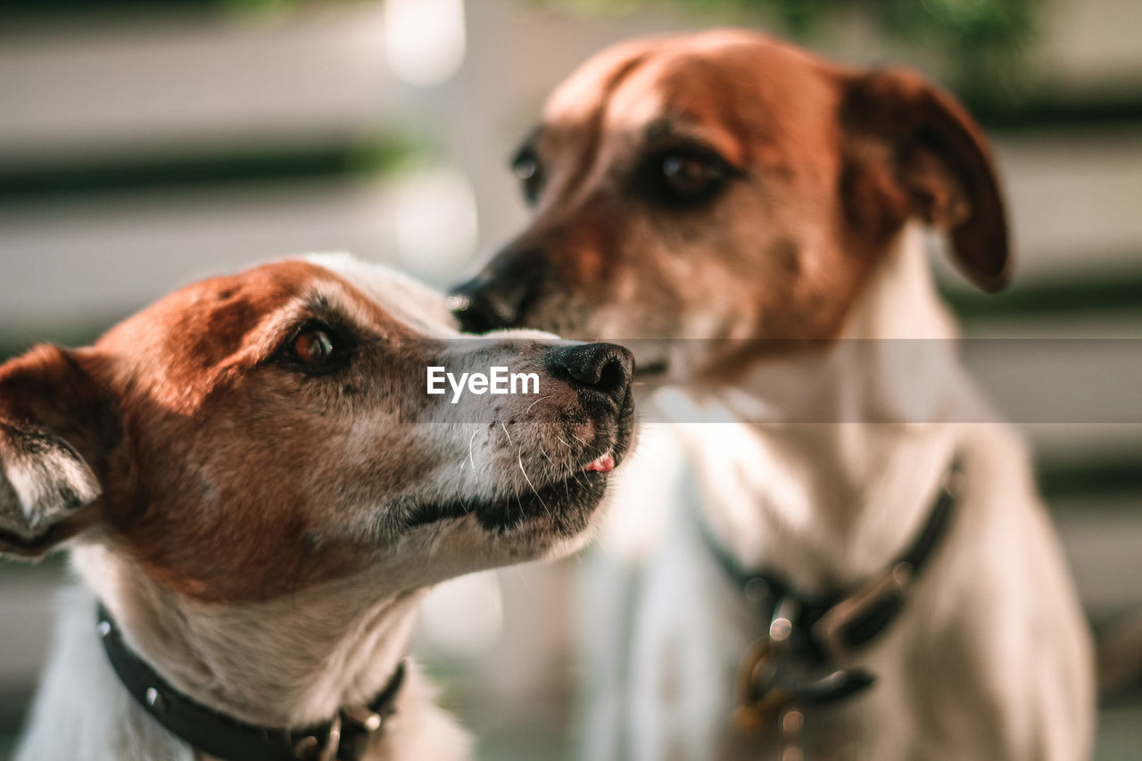
[[[638, 478], [656, 494], [664, 481], [677, 488], [633, 595], [627, 683], [611, 678], [625, 690], [626, 721], [592, 716], [586, 758], [619, 758], [620, 745], [635, 761], [777, 758], [772, 730], [758, 740], [730, 724], [739, 659], [769, 622], [716, 564], [697, 520], [742, 567], [764, 566], [810, 592], [856, 584], [912, 540], [956, 452], [966, 491], [949, 532], [903, 614], [846, 664], [877, 682], [838, 707], [804, 710], [806, 758], [1089, 755], [1093, 664], [1077, 595], [1024, 443], [958, 363], [916, 230], [879, 265], [846, 337], [928, 341], [841, 342], [706, 396], [660, 392], [657, 406], [681, 420], [662, 430], [684, 465], [668, 474], [636, 460], [626, 473], [620, 494], [640, 492]], [[837, 423], [789, 422], [802, 415]], [[625, 510], [638, 507], [658, 505]]]

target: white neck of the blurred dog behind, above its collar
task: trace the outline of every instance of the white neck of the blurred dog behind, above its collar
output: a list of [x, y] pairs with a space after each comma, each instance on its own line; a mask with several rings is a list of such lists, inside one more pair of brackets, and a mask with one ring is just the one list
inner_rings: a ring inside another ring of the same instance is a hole
[[954, 450], [962, 394], [955, 323], [918, 229], [870, 275], [841, 341], [766, 360], [743, 382], [665, 403], [700, 463], [706, 518], [743, 567], [806, 591], [883, 570], [918, 531]]

